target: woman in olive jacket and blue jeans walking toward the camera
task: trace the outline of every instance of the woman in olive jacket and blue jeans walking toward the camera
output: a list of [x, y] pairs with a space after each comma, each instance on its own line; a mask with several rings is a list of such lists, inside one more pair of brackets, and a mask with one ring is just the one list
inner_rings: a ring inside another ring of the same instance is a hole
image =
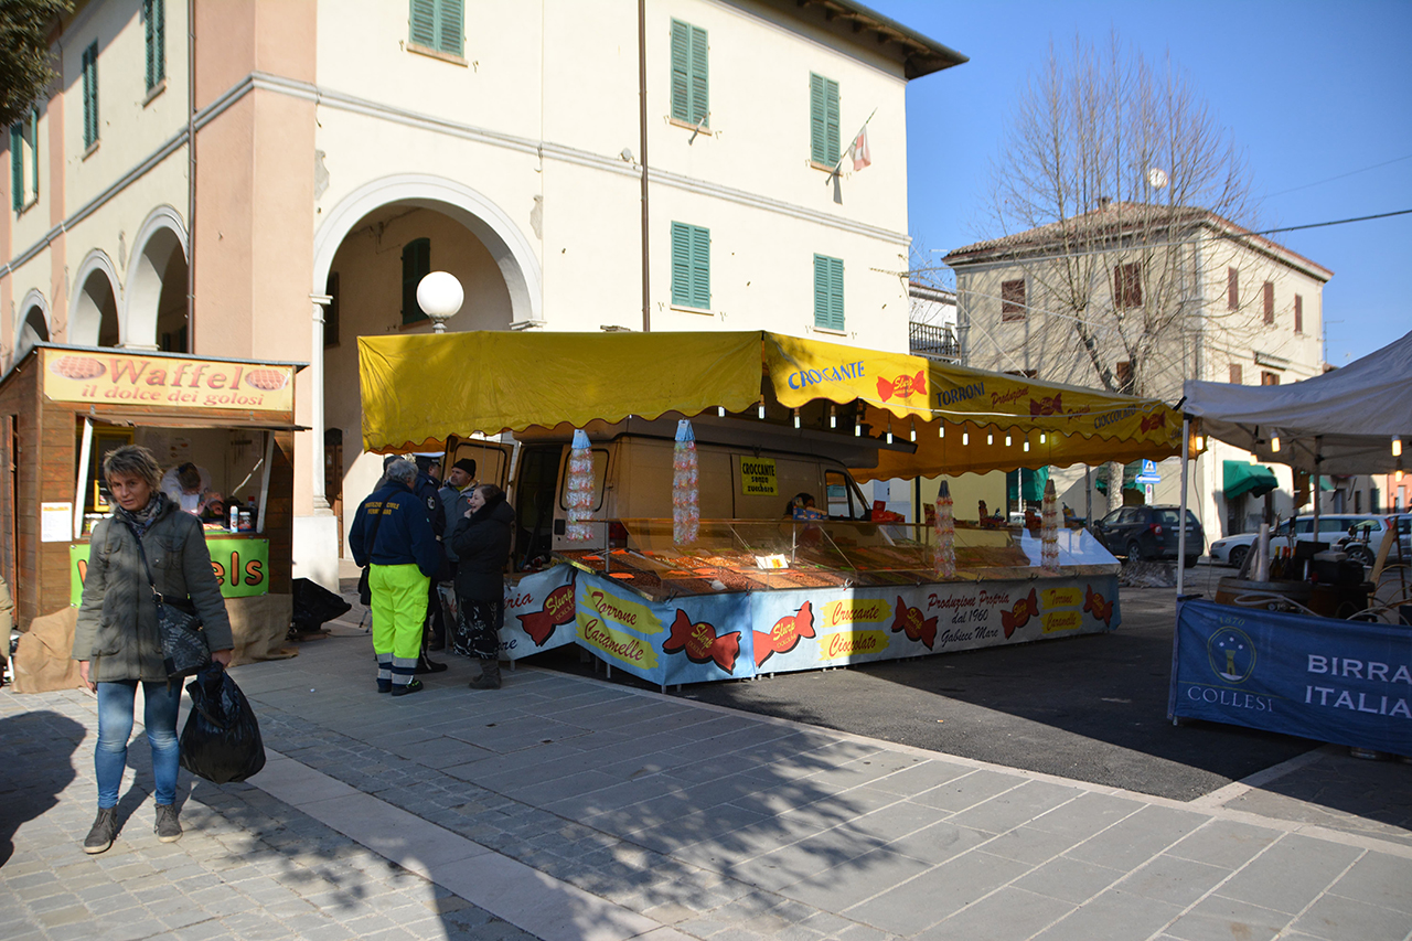
[[[230, 664], [230, 619], [210, 568], [201, 521], [160, 489], [162, 472], [152, 452], [124, 445], [103, 459], [103, 478], [117, 504], [93, 528], [83, 603], [73, 633], [73, 658], [89, 690], [97, 694], [97, 819], [83, 852], [100, 853], [117, 836], [117, 791], [133, 733], [133, 704], [143, 684], [143, 725], [152, 749], [157, 838], [181, 839], [176, 819], [176, 706], [181, 684], [167, 682], [157, 603], [147, 584], [151, 569], [165, 598], [191, 596], [205, 625], [210, 658]], [[138, 543], [141, 540], [141, 543]], [[145, 565], [144, 565], [145, 555]]]

